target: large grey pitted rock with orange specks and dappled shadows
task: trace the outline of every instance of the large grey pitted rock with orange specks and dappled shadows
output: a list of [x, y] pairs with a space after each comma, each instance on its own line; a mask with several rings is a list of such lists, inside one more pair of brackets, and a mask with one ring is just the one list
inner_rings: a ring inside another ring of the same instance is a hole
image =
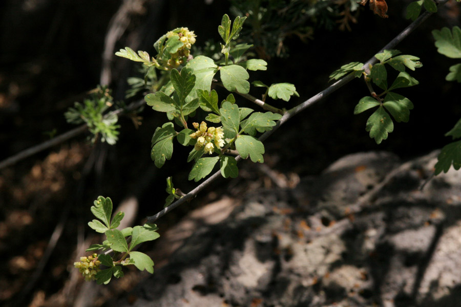
[[461, 173], [420, 190], [435, 157], [357, 153], [294, 189], [249, 193], [114, 305], [459, 306]]

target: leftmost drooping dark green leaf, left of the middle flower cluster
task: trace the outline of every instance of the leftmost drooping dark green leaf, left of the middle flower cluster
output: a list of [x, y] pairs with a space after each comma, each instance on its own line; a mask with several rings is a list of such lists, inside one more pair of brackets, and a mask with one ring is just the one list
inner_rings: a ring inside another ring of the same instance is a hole
[[152, 136], [151, 159], [158, 168], [163, 166], [165, 159], [171, 159], [173, 155], [173, 138], [176, 134], [172, 122], [164, 123], [161, 128], [157, 127], [155, 130]]

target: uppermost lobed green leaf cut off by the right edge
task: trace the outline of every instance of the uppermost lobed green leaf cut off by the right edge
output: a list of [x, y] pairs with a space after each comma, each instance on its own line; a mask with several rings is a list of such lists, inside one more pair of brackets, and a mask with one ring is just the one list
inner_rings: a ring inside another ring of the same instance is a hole
[[433, 30], [432, 35], [435, 38], [438, 53], [450, 58], [461, 58], [461, 29], [459, 27], [453, 27], [452, 32], [446, 27], [441, 31]]

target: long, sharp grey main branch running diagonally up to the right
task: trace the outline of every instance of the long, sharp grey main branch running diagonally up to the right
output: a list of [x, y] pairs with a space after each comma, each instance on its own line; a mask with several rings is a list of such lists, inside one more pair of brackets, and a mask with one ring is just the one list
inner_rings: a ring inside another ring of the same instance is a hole
[[[440, 5], [443, 5], [447, 2], [448, 0], [442, 0], [439, 2], [439, 6]], [[415, 21], [413, 21], [407, 28], [405, 28], [405, 30], [403, 30], [399, 35], [397, 35], [394, 39], [392, 39], [386, 46], [384, 46], [380, 51], [376, 52], [376, 54], [378, 53], [382, 53], [385, 49], [392, 49], [394, 48], [395, 46], [397, 46], [397, 44], [399, 42], [401, 42], [404, 38], [406, 38], [411, 32], [413, 32], [414, 29], [416, 29], [418, 26], [420, 26], [423, 21], [425, 21], [432, 13], [430, 12], [424, 12], [420, 17], [418, 17]], [[374, 64], [378, 61], [378, 59], [376, 59], [374, 56], [372, 58], [370, 58], [364, 65], [363, 65], [363, 69], [365, 69], [365, 67], [369, 67], [370, 64]], [[354, 76], [353, 75], [348, 75], [346, 77], [344, 77], [343, 79], [341, 80], [338, 80], [337, 82], [331, 84], [330, 86], [328, 86], [325, 90], [323, 90], [322, 92], [318, 93], [317, 95], [314, 95], [312, 96], [311, 98], [307, 99], [306, 101], [304, 101], [303, 103], [300, 103], [299, 105], [295, 106], [294, 108], [291, 108], [289, 109], [283, 116], [282, 118], [277, 122], [277, 124], [274, 126], [274, 128], [270, 131], [266, 131], [263, 135], [261, 135], [261, 137], [259, 137], [259, 140], [261, 142], [263, 142], [264, 140], [266, 140], [271, 134], [274, 133], [274, 131], [276, 131], [282, 124], [284, 124], [287, 120], [289, 120], [290, 118], [294, 117], [295, 115], [297, 115], [298, 113], [300, 113], [301, 111], [304, 111], [306, 108], [308, 108], [309, 106], [311, 106], [312, 104], [316, 103], [316, 102], [319, 102], [321, 101], [323, 98], [329, 96], [331, 93], [333, 93], [334, 91], [340, 89], [340, 87], [346, 85], [347, 83], [349, 83], [352, 79], [354, 79]], [[236, 158], [237, 161], [240, 161], [241, 160], [241, 157], [238, 156]], [[159, 211], [157, 214], [155, 215], [152, 215], [152, 216], [148, 216], [147, 217], [147, 222], [148, 223], [154, 223], [155, 221], [157, 221], [160, 217], [162, 217], [163, 215], [165, 215], [166, 213], [170, 212], [171, 210], [175, 209], [176, 207], [182, 205], [183, 203], [191, 200], [192, 198], [195, 197], [195, 195], [198, 194], [198, 192], [200, 192], [201, 190], [203, 190], [204, 188], [206, 188], [209, 184], [211, 184], [213, 181], [215, 181], [216, 179], [218, 179], [219, 177], [221, 177], [221, 171], [217, 171], [215, 172], [211, 177], [209, 177], [208, 179], [206, 179], [204, 182], [202, 182], [200, 185], [198, 185], [195, 189], [193, 189], [192, 191], [188, 192], [183, 198], [181, 198], [180, 200], [174, 202], [173, 204], [171, 204], [170, 206], [164, 208], [163, 210]]]

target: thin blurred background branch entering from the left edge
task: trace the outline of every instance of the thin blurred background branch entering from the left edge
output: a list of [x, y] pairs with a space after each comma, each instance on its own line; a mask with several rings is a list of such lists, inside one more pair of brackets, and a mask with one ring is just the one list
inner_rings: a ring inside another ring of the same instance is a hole
[[[134, 109], [137, 109], [138, 107], [140, 107], [141, 105], [143, 105], [145, 102], [144, 100], [139, 100], [139, 101], [136, 101], [136, 102], [132, 102], [130, 103], [126, 108], [119, 108], [119, 109], [116, 109], [112, 112], [109, 112], [108, 114], [104, 115], [104, 117], [108, 117], [108, 116], [111, 116], [111, 115], [119, 115], [125, 111], [133, 111]], [[50, 148], [54, 145], [57, 145], [57, 144], [60, 144], [62, 142], [65, 142], [69, 139], [72, 139], [73, 137], [75, 136], [78, 136], [79, 134], [85, 132], [86, 130], [88, 129], [88, 125], [87, 124], [83, 124], [77, 128], [74, 128], [70, 131], [67, 131], [66, 133], [64, 134], [61, 134], [57, 137], [54, 137], [52, 138], [51, 140], [48, 140], [48, 141], [45, 141], [41, 144], [38, 144], [36, 146], [33, 146], [33, 147], [30, 147], [30, 148], [27, 148], [23, 151], [20, 151], [18, 153], [16, 153], [16, 155], [12, 156], [12, 157], [9, 157], [3, 161], [0, 161], [0, 169], [2, 168], [5, 168], [5, 167], [8, 167], [8, 166], [11, 166], [13, 164], [15, 164], [16, 162], [18, 161], [21, 161], [23, 159], [26, 159], [30, 156], [33, 156], [35, 155], [35, 153], [37, 152], [40, 152], [42, 150], [45, 150], [47, 148]]]

